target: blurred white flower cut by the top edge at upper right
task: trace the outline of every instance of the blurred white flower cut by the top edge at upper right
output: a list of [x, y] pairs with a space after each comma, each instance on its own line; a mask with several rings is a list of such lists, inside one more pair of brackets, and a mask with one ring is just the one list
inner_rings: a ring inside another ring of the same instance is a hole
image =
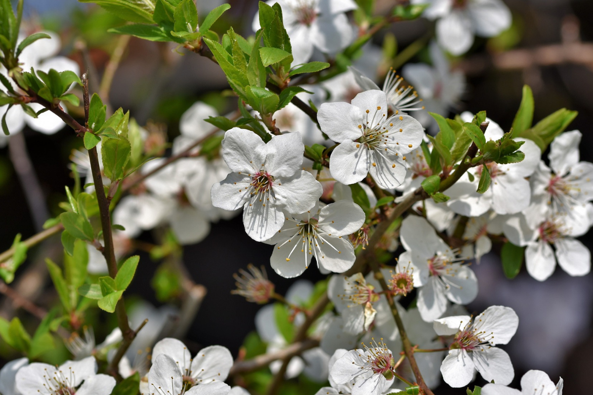
[[511, 26], [511, 11], [500, 0], [412, 0], [429, 4], [424, 16], [436, 23], [439, 44], [454, 55], [470, 49], [474, 34], [494, 37]]

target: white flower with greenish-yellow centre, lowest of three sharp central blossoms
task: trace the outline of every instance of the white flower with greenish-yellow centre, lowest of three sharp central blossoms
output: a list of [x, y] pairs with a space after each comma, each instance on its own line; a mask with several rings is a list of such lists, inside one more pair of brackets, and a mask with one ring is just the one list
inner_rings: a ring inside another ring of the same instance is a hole
[[282, 277], [297, 277], [315, 257], [317, 265], [342, 273], [352, 267], [356, 256], [352, 243], [342, 236], [359, 230], [365, 213], [356, 203], [340, 200], [317, 210], [286, 217], [282, 229], [268, 244], [276, 248], [270, 257], [272, 268]]

